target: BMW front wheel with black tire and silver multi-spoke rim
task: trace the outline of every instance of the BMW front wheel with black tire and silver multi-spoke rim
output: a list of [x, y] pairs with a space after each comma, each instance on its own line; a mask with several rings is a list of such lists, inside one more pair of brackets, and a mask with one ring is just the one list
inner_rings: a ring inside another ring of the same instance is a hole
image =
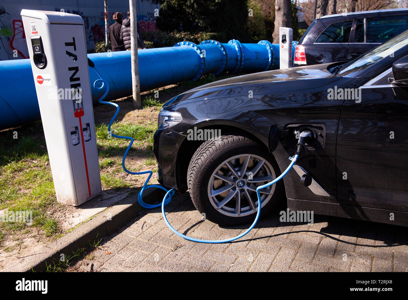
[[[252, 176], [250, 170], [254, 171]], [[187, 171], [188, 191], [195, 208], [205, 213], [206, 219], [222, 225], [248, 224], [253, 222], [257, 212], [256, 187], [280, 174], [278, 164], [264, 147], [246, 136], [224, 135], [207, 140], [195, 151]], [[265, 178], [268, 180], [253, 182]], [[221, 189], [225, 191], [217, 194]], [[264, 190], [261, 194], [261, 216], [284, 199], [283, 180], [268, 189], [270, 191]], [[248, 197], [252, 198], [252, 204]], [[226, 204], [223, 201], [227, 201]]]

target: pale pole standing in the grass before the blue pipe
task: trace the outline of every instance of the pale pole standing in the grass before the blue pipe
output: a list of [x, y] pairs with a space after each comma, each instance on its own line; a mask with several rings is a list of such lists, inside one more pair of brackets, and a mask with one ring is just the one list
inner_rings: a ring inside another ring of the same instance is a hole
[[129, 7], [130, 7], [130, 42], [131, 42], [133, 107], [135, 109], [140, 109], [142, 108], [142, 102], [140, 101], [139, 61], [137, 58], [136, 0], [129, 0]]

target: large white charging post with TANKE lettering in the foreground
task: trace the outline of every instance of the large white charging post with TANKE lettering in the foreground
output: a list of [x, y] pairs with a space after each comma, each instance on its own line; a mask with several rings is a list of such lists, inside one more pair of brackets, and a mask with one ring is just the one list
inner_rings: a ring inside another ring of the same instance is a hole
[[55, 11], [21, 16], [57, 200], [80, 205], [102, 190], [84, 22]]

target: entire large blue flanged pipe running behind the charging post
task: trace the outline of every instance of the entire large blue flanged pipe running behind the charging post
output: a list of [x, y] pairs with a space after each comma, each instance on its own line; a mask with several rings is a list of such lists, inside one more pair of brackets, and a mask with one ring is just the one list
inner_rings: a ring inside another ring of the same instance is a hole
[[[138, 54], [141, 91], [198, 80], [209, 73], [279, 69], [279, 45], [266, 40], [258, 44], [242, 44], [238, 40], [206, 40], [198, 45], [180, 42], [174, 47], [143, 49]], [[98, 104], [102, 91], [92, 82], [101, 78], [110, 87], [107, 100], [132, 94], [130, 51], [92, 53], [88, 58], [94, 64], [89, 67], [93, 104]], [[40, 120], [29, 59], [0, 61], [0, 82], [6, 87], [0, 91], [0, 130]]]

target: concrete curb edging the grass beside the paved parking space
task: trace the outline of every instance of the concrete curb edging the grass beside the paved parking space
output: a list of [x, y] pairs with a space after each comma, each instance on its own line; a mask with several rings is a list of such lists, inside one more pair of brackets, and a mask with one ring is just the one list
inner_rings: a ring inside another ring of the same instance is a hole
[[[163, 199], [164, 191], [162, 189], [146, 189], [143, 196], [144, 202], [155, 203]], [[46, 264], [53, 265], [53, 262], [58, 262], [62, 254], [68, 256], [73, 251], [89, 246], [89, 242], [109, 235], [132, 218], [135, 218], [143, 210], [144, 208], [137, 203], [137, 193], [128, 196], [99, 213], [92, 220], [47, 244], [41, 253], [34, 255], [26, 263], [3, 271], [45, 271], [47, 270]]]

